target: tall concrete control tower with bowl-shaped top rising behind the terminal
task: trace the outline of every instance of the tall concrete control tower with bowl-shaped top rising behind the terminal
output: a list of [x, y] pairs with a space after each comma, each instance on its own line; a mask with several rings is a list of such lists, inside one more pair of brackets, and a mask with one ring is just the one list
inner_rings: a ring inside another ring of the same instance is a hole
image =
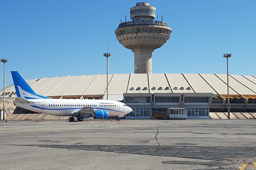
[[154, 21], [156, 8], [147, 2], [137, 3], [130, 14], [133, 21], [120, 21], [116, 39], [134, 52], [134, 73], [152, 73], [152, 52], [169, 40], [172, 29], [162, 19]]

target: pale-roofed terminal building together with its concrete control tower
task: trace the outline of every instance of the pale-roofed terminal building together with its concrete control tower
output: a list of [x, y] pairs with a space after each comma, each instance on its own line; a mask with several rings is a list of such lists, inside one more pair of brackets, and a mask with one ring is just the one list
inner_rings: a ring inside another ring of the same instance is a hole
[[[162, 17], [155, 18], [156, 8], [140, 2], [130, 8], [132, 21], [120, 22], [115, 30], [119, 43], [134, 52], [134, 74], [108, 75], [109, 100], [122, 101], [133, 109], [126, 119], [156, 118], [159, 113], [164, 114], [163, 119], [209, 119], [212, 112], [227, 112], [227, 75], [152, 73], [152, 52], [172, 33]], [[38, 94], [50, 98], [107, 99], [106, 75], [27, 81]], [[256, 112], [255, 76], [229, 75], [229, 94], [231, 112]], [[5, 94], [0, 91], [0, 98], [4, 95], [16, 97], [13, 84]], [[18, 113], [14, 105], [9, 106], [9, 111]]]

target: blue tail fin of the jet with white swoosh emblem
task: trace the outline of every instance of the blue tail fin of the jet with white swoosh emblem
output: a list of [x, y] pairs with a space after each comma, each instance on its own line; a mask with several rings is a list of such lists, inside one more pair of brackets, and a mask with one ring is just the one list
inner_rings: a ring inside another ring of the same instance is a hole
[[50, 99], [37, 94], [18, 71], [11, 71], [17, 97], [24, 99]]

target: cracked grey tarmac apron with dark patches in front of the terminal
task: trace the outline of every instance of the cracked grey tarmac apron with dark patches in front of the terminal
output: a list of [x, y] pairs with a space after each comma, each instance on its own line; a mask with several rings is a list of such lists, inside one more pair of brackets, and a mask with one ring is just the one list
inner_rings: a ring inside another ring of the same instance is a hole
[[0, 169], [256, 169], [256, 120], [0, 121]]

